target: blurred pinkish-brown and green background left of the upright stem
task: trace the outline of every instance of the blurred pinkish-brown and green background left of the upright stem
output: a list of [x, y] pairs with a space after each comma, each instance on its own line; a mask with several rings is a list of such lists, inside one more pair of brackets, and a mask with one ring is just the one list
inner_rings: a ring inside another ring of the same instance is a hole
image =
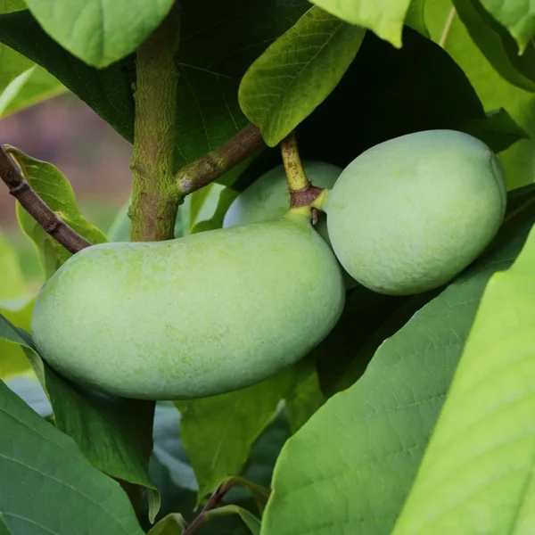
[[[132, 147], [86, 103], [63, 93], [0, 119], [0, 144], [57, 166], [70, 180], [85, 217], [106, 232], [130, 191]], [[37, 251], [22, 234], [15, 200], [0, 184], [0, 228], [20, 254], [29, 284], [43, 279]]]

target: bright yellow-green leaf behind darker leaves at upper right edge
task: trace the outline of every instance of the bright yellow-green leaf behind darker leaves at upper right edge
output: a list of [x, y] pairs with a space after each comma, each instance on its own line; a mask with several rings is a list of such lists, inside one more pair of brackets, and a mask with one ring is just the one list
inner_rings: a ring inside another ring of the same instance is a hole
[[444, 42], [445, 49], [470, 78], [486, 110], [505, 108], [531, 136], [530, 140], [519, 141], [499, 155], [509, 189], [529, 184], [535, 178], [535, 142], [532, 141], [535, 138], [535, 96], [502, 78], [474, 45], [458, 16], [448, 24], [450, 13], [450, 0], [425, 4], [425, 21], [432, 39]]

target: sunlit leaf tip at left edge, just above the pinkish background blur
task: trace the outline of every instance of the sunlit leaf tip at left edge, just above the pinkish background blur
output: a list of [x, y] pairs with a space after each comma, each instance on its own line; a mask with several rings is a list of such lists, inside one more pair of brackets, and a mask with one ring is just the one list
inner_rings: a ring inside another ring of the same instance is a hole
[[61, 95], [65, 91], [62, 83], [52, 74], [38, 65], [33, 65], [14, 78], [0, 95], [0, 118]]

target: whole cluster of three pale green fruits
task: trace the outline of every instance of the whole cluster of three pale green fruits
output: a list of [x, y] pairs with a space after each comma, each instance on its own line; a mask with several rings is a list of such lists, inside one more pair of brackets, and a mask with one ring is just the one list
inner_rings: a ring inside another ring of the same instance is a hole
[[378, 144], [346, 169], [307, 161], [326, 188], [316, 228], [288, 210], [284, 169], [224, 228], [78, 252], [37, 297], [32, 333], [54, 369], [136, 399], [191, 399], [257, 383], [331, 332], [348, 288], [406, 295], [448, 283], [489, 245], [506, 210], [495, 155], [450, 130]]

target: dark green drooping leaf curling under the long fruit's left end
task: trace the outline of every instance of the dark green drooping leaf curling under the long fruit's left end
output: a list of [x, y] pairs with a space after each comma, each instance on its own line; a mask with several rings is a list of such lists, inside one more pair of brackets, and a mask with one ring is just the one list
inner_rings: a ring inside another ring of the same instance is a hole
[[140, 446], [140, 422], [147, 415], [142, 402], [113, 399], [86, 391], [55, 374], [39, 357], [31, 337], [0, 315], [0, 339], [18, 344], [29, 358], [37, 378], [50, 399], [56, 427], [70, 435], [96, 468], [111, 477], [149, 489], [160, 499], [147, 473]]

